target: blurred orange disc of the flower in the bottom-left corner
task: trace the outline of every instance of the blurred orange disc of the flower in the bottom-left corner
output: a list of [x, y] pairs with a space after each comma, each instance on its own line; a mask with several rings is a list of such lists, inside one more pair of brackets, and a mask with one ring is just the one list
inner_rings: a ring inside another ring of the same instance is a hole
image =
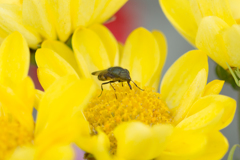
[[0, 116], [0, 160], [7, 157], [18, 146], [31, 143], [33, 132], [29, 132], [11, 116]]

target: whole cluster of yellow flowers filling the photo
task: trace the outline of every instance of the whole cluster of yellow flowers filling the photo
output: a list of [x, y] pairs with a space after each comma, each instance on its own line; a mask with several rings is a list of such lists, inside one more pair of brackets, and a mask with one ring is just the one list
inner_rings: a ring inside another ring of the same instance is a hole
[[[207, 54], [225, 69], [226, 62], [240, 67], [237, 8], [232, 16], [227, 0], [160, 0], [200, 50], [181, 56], [159, 87], [167, 57], [163, 33], [137, 28], [122, 45], [101, 24], [126, 1], [0, 1], [0, 160], [71, 160], [76, 146], [89, 160], [217, 160], [226, 154], [220, 130], [233, 120], [236, 102], [219, 94], [224, 81], [207, 83]], [[38, 48], [44, 92], [28, 77], [29, 48]], [[112, 66], [128, 69], [144, 91], [116, 83], [98, 97], [100, 82], [91, 72]]]

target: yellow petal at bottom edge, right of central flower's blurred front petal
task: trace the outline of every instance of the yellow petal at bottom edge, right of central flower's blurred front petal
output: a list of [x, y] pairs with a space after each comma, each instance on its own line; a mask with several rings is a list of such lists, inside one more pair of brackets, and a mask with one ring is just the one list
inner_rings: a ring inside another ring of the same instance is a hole
[[164, 151], [157, 160], [186, 160], [198, 157], [207, 144], [207, 138], [201, 134], [190, 134], [175, 130]]

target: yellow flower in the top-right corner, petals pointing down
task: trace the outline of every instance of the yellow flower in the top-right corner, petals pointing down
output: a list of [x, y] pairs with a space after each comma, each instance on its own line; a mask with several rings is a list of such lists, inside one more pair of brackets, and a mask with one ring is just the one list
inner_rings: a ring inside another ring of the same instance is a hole
[[226, 62], [231, 67], [240, 67], [239, 0], [159, 2], [169, 21], [191, 44], [224, 69]]

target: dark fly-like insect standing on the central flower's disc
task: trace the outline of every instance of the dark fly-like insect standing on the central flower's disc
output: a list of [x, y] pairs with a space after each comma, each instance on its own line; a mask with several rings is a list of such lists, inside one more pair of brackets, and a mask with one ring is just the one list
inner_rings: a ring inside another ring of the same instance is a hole
[[[108, 84], [108, 83], [112, 86], [112, 83], [114, 83], [114, 82], [125, 82], [126, 81], [128, 83], [129, 88], [132, 89], [132, 86], [130, 85], [130, 81], [132, 81], [132, 79], [130, 77], [130, 73], [127, 69], [124, 69], [122, 67], [110, 67], [105, 70], [92, 72], [92, 75], [98, 76], [98, 79], [100, 81], [108, 81], [108, 82], [101, 84], [102, 91], [98, 97], [100, 97], [102, 95], [103, 85]], [[134, 83], [134, 84], [136, 87], [138, 87], [136, 83]], [[112, 88], [115, 90], [115, 88], [113, 86], [112, 86]], [[139, 88], [139, 89], [144, 91], [141, 88]], [[115, 96], [117, 98], [116, 94], [115, 94]]]

